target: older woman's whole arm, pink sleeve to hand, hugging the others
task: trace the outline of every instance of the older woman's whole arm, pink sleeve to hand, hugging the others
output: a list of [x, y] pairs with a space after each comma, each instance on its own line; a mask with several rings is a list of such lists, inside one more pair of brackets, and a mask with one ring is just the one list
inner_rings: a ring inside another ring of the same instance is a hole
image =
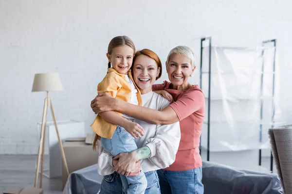
[[146, 121], [147, 123], [161, 125], [178, 122], [201, 109], [203, 105], [204, 95], [200, 90], [188, 92], [162, 111], [136, 106], [110, 97], [105, 93], [99, 94], [98, 97], [91, 101], [91, 108], [95, 113], [115, 110], [139, 120]]

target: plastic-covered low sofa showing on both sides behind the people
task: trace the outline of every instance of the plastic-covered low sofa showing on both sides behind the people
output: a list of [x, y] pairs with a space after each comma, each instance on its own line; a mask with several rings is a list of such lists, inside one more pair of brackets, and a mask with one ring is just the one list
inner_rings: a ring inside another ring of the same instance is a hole
[[[101, 177], [97, 164], [70, 174], [64, 194], [97, 194]], [[283, 194], [277, 175], [238, 170], [203, 162], [204, 194]]]

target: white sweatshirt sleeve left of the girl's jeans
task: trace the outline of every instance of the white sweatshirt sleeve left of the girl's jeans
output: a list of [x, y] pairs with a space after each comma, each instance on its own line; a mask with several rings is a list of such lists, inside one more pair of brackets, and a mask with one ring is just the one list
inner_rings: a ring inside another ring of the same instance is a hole
[[114, 172], [114, 168], [112, 166], [112, 155], [106, 152], [101, 146], [100, 140], [97, 140], [98, 147], [98, 162], [97, 162], [97, 172], [98, 174], [105, 176], [110, 175]]

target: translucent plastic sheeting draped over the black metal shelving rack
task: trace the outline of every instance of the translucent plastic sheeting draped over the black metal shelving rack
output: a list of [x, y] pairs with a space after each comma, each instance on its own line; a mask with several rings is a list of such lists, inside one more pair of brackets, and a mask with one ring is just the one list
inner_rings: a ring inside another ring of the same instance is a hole
[[[273, 123], [272, 107], [277, 104], [276, 88], [273, 95], [273, 83], [276, 82], [274, 51], [274, 47], [211, 47], [208, 113], [209, 47], [203, 48], [201, 89], [206, 97], [201, 136], [203, 148], [207, 148], [208, 114], [210, 151], [270, 148], [268, 129]], [[279, 111], [276, 109], [274, 120], [277, 122], [278, 118]]]

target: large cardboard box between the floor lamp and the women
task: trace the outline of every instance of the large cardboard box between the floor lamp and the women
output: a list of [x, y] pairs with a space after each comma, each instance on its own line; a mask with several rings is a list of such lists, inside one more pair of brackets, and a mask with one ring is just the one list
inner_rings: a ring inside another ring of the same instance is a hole
[[[92, 140], [93, 136], [87, 135], [86, 138], [68, 138], [63, 143], [69, 174], [97, 163], [98, 149], [96, 148], [96, 151], [92, 150]], [[63, 189], [67, 178], [63, 165]]]

